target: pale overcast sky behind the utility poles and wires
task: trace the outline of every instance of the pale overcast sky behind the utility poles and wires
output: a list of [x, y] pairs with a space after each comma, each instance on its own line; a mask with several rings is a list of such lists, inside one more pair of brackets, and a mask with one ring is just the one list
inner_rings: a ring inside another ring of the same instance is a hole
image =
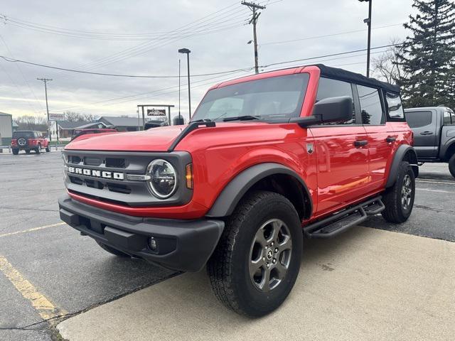
[[[368, 16], [368, 3], [259, 3], [267, 5], [257, 26], [259, 65], [366, 47], [363, 19]], [[392, 38], [405, 38], [407, 32], [401, 24], [412, 12], [411, 4], [412, 0], [373, 0], [372, 47], [387, 45]], [[173, 76], [178, 75], [181, 58], [182, 76], [186, 76], [186, 57], [177, 50], [189, 48], [193, 75], [254, 65], [253, 47], [247, 44], [252, 39], [252, 26], [247, 25], [251, 12], [240, 5], [240, 0], [3, 0], [0, 14], [6, 16], [6, 21], [0, 18], [0, 55], [32, 63], [91, 72]], [[324, 63], [365, 73], [364, 54], [317, 58], [261, 70]], [[250, 73], [193, 77], [193, 110], [210, 85]], [[137, 104], [174, 104], [174, 113], [178, 112], [178, 78], [84, 75], [8, 63], [1, 58], [0, 112], [44, 117], [44, 86], [37, 77], [53, 79], [48, 84], [50, 112], [134, 116]], [[186, 77], [181, 82], [181, 112], [188, 115]]]

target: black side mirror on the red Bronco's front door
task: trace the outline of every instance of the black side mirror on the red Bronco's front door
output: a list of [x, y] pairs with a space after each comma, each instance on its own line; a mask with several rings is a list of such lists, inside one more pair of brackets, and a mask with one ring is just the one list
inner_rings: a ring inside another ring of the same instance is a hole
[[289, 122], [299, 126], [346, 122], [353, 118], [353, 99], [348, 96], [329, 97], [314, 104], [313, 114], [309, 117], [296, 117]]

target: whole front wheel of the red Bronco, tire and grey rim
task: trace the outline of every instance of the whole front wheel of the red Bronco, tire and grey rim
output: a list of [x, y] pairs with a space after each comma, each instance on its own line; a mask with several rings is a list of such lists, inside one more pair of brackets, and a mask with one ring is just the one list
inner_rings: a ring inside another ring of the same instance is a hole
[[303, 234], [286, 197], [257, 191], [226, 222], [207, 264], [213, 292], [227, 308], [260, 317], [279, 307], [299, 274]]

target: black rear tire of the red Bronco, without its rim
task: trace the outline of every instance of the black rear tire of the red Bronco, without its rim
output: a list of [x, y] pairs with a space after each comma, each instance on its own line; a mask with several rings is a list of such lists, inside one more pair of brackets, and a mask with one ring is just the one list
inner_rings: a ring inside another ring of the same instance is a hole
[[[410, 179], [410, 202], [407, 207], [402, 203], [402, 195], [405, 179], [409, 177]], [[397, 179], [395, 184], [388, 188], [384, 195], [382, 195], [382, 202], [384, 202], [385, 210], [382, 211], [382, 217], [387, 222], [394, 222], [396, 224], [401, 224], [405, 222], [411, 215], [412, 207], [414, 206], [414, 197], [415, 197], [415, 177], [414, 171], [410, 163], [402, 161], [398, 167]]]

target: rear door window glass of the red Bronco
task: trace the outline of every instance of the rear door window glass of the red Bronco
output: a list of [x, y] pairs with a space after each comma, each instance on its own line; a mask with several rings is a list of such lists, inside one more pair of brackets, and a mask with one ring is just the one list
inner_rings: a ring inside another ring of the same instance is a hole
[[362, 123], [377, 126], [384, 123], [384, 113], [378, 89], [357, 85]]

